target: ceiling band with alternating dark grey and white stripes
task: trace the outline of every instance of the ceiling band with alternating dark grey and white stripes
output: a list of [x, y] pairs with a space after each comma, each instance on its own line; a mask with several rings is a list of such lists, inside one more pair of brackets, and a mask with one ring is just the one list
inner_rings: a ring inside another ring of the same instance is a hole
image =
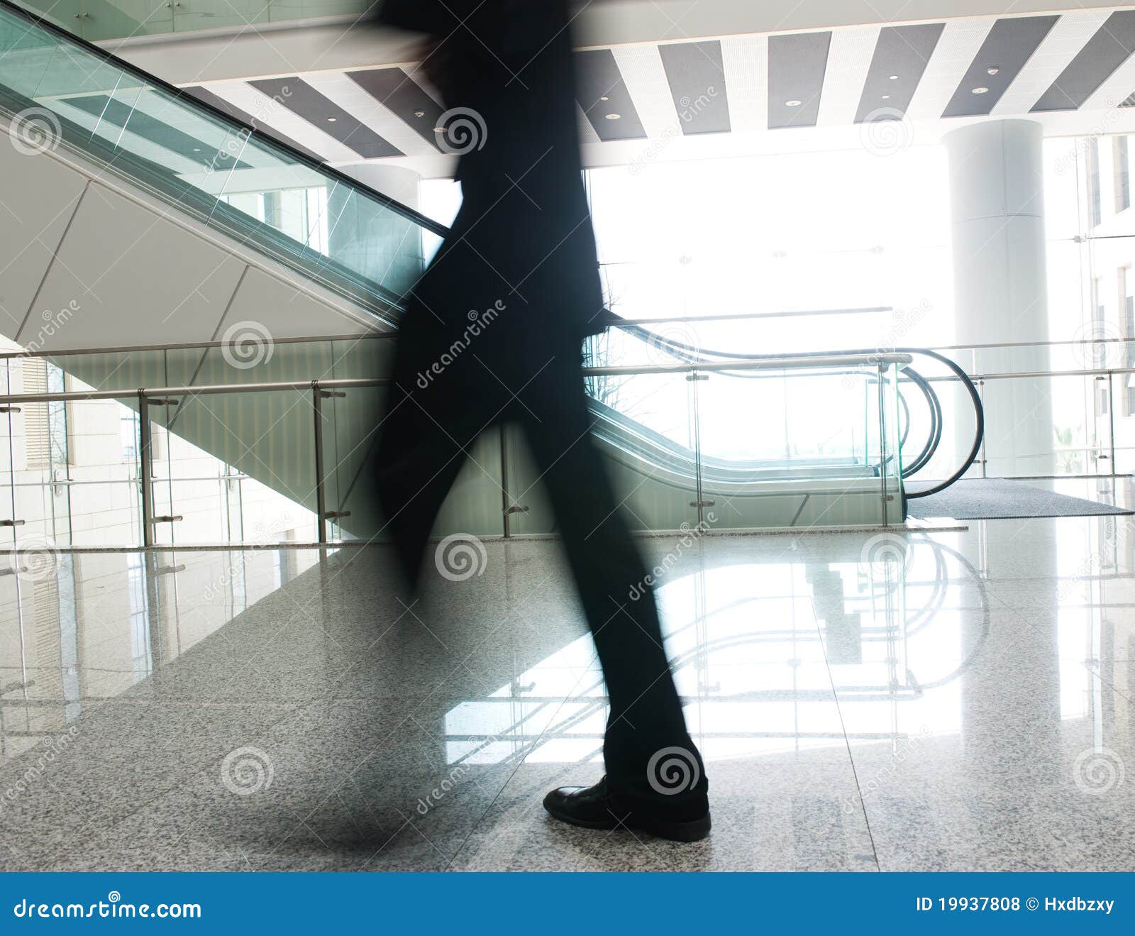
[[[585, 143], [1135, 106], [1135, 9], [575, 53]], [[436, 156], [443, 107], [382, 66], [187, 89], [333, 162]]]

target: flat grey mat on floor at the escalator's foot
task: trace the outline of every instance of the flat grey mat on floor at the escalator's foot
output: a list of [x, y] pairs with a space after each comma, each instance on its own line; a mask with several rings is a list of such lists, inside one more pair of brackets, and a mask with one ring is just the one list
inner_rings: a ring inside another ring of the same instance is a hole
[[[933, 485], [924, 485], [924, 487], [930, 486]], [[913, 485], [910, 490], [917, 491], [917, 485]], [[955, 520], [1000, 520], [1032, 517], [1108, 517], [1135, 513], [1135, 510], [1057, 494], [1019, 480], [966, 478], [951, 484], [938, 494], [909, 499], [907, 512], [923, 520], [932, 517], [952, 517]]]

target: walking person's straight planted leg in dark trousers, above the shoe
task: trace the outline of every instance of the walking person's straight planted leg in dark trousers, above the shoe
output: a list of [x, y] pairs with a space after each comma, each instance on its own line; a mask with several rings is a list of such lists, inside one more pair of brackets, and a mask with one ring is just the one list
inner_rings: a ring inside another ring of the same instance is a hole
[[686, 728], [642, 559], [591, 438], [579, 352], [558, 356], [529, 391], [518, 415], [552, 499], [611, 699], [607, 787], [624, 805], [696, 818], [707, 808], [705, 768]]

